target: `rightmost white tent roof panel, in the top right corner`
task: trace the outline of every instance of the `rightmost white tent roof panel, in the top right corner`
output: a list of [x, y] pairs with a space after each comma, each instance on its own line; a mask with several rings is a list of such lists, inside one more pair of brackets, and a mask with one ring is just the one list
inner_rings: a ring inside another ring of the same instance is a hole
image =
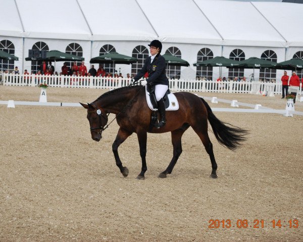
[[252, 3], [287, 40], [288, 46], [303, 46], [303, 4]]

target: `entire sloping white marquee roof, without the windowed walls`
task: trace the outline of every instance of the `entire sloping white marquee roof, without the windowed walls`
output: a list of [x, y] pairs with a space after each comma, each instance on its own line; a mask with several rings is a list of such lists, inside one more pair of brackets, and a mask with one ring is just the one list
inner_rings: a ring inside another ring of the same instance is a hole
[[303, 46], [303, 33], [293, 31], [303, 24], [300, 4], [222, 0], [0, 0], [0, 5], [1, 36]]

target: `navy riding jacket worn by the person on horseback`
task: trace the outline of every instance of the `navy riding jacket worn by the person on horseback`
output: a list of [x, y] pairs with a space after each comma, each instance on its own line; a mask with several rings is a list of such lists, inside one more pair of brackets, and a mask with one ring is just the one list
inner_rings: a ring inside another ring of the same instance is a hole
[[148, 56], [145, 59], [143, 68], [137, 73], [134, 80], [138, 81], [146, 72], [148, 72], [148, 78], [146, 79], [148, 84], [162, 84], [168, 86], [168, 79], [165, 74], [165, 58], [158, 53], [154, 58], [154, 61], [150, 63], [150, 57], [151, 56]]

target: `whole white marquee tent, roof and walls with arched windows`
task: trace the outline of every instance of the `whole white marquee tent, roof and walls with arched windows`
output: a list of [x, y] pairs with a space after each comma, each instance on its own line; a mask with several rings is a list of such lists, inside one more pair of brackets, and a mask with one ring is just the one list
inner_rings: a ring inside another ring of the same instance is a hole
[[[261, 57], [271, 50], [276, 61], [292, 58], [303, 51], [303, 5], [279, 2], [235, 2], [220, 0], [0, 0], [0, 48], [4, 40], [14, 45], [15, 62], [20, 69], [31, 69], [25, 62], [28, 49], [39, 41], [48, 49], [65, 52], [71, 43], [82, 48], [89, 67], [91, 57], [106, 44], [117, 52], [132, 55], [138, 45], [148, 47], [153, 39], [179, 50], [190, 63], [181, 68], [181, 78], [195, 78], [197, 54], [209, 48], [213, 56], [229, 57], [240, 49], [245, 58]], [[302, 52], [303, 53], [303, 52]], [[303, 56], [302, 56], [303, 57]], [[125, 75], [131, 66], [117, 65]], [[56, 66], [60, 71], [60, 65]], [[223, 69], [223, 76], [228, 75]], [[251, 70], [245, 70], [249, 76]], [[280, 72], [278, 71], [277, 75]], [[258, 72], [256, 72], [257, 75]], [[214, 68], [217, 78], [219, 69]]]

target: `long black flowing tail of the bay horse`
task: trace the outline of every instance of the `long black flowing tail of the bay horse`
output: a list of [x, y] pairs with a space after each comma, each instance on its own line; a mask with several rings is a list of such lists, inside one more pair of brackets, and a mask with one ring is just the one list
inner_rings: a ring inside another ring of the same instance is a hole
[[248, 134], [248, 131], [220, 121], [213, 113], [209, 104], [203, 98], [201, 100], [207, 108], [207, 118], [218, 142], [230, 150], [238, 148], [241, 142], [246, 140], [245, 136]]

